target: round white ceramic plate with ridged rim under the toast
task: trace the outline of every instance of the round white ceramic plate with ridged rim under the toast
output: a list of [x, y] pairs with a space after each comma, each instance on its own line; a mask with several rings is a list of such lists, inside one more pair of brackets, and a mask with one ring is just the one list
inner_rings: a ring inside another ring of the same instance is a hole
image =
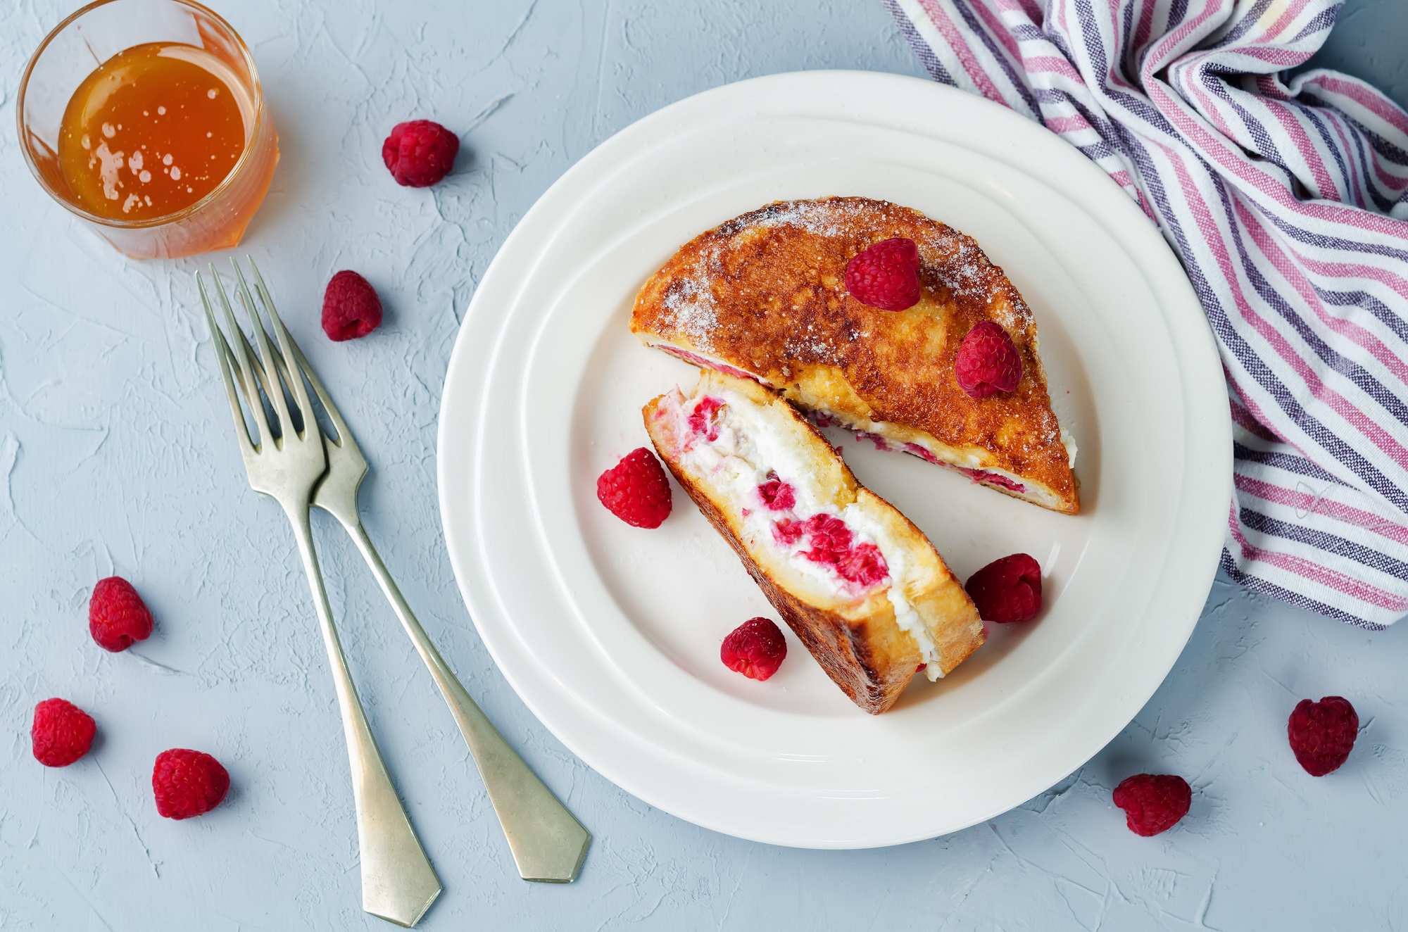
[[[683, 242], [779, 199], [862, 194], [973, 235], [1032, 306], [1084, 511], [1052, 514], [845, 434], [862, 483], [966, 579], [1025, 550], [1046, 610], [890, 712], [859, 711], [788, 632], [781, 670], [719, 642], [777, 615], [674, 490], [656, 531], [596, 500], [648, 445], [641, 405], [696, 370], [627, 329]], [[976, 96], [860, 72], [719, 87], [621, 131], [504, 242], [445, 380], [439, 497], [470, 614], [504, 676], [587, 764], [667, 812], [779, 845], [952, 832], [1076, 770], [1173, 666], [1231, 500], [1207, 322], [1155, 225], [1046, 130]]]

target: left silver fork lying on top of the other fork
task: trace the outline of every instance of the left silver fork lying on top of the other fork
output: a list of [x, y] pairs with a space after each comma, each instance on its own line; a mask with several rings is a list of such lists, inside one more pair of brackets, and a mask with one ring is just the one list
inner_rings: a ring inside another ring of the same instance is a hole
[[[352, 798], [356, 807], [358, 848], [362, 860], [362, 908], [397, 925], [411, 926], [439, 895], [441, 884], [420, 839], [415, 838], [415, 831], [396, 795], [391, 779], [386, 773], [382, 753], [377, 750], [376, 739], [366, 721], [366, 712], [358, 700], [352, 673], [342, 656], [337, 628], [332, 625], [332, 610], [322, 586], [322, 573], [318, 570], [318, 556], [313, 549], [313, 534], [308, 525], [313, 490], [327, 472], [322, 434], [313, 417], [313, 403], [301, 379], [284, 382], [301, 414], [301, 431], [296, 429], [290, 417], [291, 411], [284, 397], [284, 387], [280, 387], [279, 369], [280, 362], [284, 373], [293, 369], [290, 365], [293, 339], [283, 321], [279, 320], [273, 303], [265, 303], [265, 313], [268, 313], [279, 341], [277, 352], [265, 332], [255, 301], [249, 294], [249, 286], [237, 263], [237, 293], [253, 322], [255, 341], [259, 346], [259, 353], [255, 356], [253, 348], [235, 321], [234, 308], [225, 296], [225, 286], [214, 266], [210, 267], [210, 273], [215, 282], [215, 293], [224, 310], [225, 324], [232, 335], [238, 334], [238, 338], [231, 336], [230, 342], [221, 334], [211, 310], [210, 296], [206, 293], [206, 282], [197, 272], [196, 284], [206, 308], [206, 322], [210, 325], [211, 341], [215, 345], [215, 358], [220, 360], [225, 394], [230, 397], [230, 411], [235, 418], [235, 439], [239, 442], [239, 452], [245, 460], [245, 472], [249, 476], [251, 487], [275, 498], [293, 525], [293, 535], [303, 558], [303, 569], [313, 588], [313, 603], [318, 612], [322, 642], [328, 650], [328, 666], [332, 667], [338, 710], [342, 712], [342, 732], [352, 763]], [[234, 342], [232, 349], [231, 342]], [[237, 380], [238, 393], [235, 390]], [[270, 429], [269, 418], [265, 414], [265, 404], [259, 394], [260, 384], [266, 389], [265, 397], [277, 418], [277, 435]], [[249, 414], [259, 434], [258, 439], [249, 436], [239, 404], [241, 394], [248, 401]]]

